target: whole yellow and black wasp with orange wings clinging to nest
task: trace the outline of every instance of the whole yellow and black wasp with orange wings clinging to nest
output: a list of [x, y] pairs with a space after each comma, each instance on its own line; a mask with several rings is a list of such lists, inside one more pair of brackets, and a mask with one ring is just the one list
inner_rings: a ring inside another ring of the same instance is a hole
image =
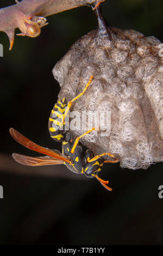
[[65, 131], [64, 129], [65, 117], [72, 106], [72, 102], [77, 100], [85, 93], [86, 89], [92, 82], [92, 79], [93, 76], [90, 77], [90, 80], [86, 84], [83, 92], [80, 93], [77, 97], [68, 103], [65, 103], [65, 98], [61, 101], [58, 100], [52, 109], [51, 116], [49, 118], [49, 132], [53, 139], [62, 142], [62, 154], [58, 150], [43, 148], [35, 144], [28, 138], [24, 137], [21, 133], [11, 128], [10, 134], [15, 139], [15, 141], [28, 149], [46, 155], [41, 157], [30, 157], [20, 154], [12, 154], [12, 157], [14, 157], [18, 163], [26, 164], [28, 166], [66, 164], [68, 169], [70, 169], [72, 172], [85, 174], [87, 178], [95, 177], [107, 190], [111, 191], [112, 188], [106, 185], [109, 181], [105, 181], [99, 178], [98, 172], [102, 169], [103, 163], [116, 163], [118, 162], [118, 159], [105, 161], [105, 155], [109, 155], [111, 157], [115, 157], [115, 155], [110, 153], [103, 153], [101, 155], [94, 156], [91, 150], [87, 149], [79, 142], [80, 138], [95, 130], [95, 128], [86, 131], [79, 137], [73, 137], [70, 131]]

